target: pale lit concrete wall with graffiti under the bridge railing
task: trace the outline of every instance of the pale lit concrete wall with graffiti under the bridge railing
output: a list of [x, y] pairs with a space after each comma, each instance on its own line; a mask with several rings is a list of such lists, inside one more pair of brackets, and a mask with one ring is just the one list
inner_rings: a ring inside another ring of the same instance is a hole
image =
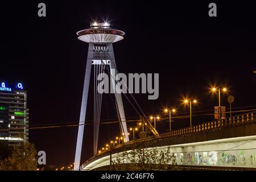
[[[229, 139], [209, 140], [186, 144], [157, 147], [158, 150], [171, 148], [178, 165], [250, 167], [256, 168], [256, 135]], [[147, 148], [151, 150], [152, 148]], [[112, 155], [114, 161], [122, 152]], [[102, 156], [83, 166], [84, 170], [92, 170], [109, 166], [109, 155]], [[130, 163], [129, 160], [126, 163]]]

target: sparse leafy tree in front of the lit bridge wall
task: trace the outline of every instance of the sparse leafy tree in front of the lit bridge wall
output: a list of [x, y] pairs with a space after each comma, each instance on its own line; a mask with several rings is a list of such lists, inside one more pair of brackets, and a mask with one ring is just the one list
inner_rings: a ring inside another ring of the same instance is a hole
[[[114, 170], [176, 170], [176, 156], [170, 147], [158, 150], [152, 147], [155, 142], [144, 140], [131, 144], [131, 150], [119, 153], [113, 161]], [[148, 148], [150, 147], [150, 148]]]

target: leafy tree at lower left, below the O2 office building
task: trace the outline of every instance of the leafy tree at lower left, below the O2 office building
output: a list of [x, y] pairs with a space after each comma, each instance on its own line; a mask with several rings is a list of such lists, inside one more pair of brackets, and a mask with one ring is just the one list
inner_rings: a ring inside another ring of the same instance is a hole
[[32, 143], [14, 146], [11, 155], [0, 160], [0, 171], [34, 171], [37, 166], [36, 154]]

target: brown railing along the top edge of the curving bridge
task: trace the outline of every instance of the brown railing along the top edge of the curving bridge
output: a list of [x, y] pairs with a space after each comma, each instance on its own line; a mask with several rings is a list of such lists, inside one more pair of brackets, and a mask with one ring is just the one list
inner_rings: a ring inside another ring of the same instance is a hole
[[[119, 148], [119, 147], [127, 146], [129, 144], [139, 143], [147, 140], [162, 140], [162, 139], [169, 139], [169, 138], [175, 138], [175, 137], [181, 137], [181, 136], [188, 136], [188, 135], [206, 132], [206, 131], [220, 130], [221, 128], [226, 128], [226, 127], [236, 127], [240, 125], [247, 125], [250, 123], [256, 123], [256, 110], [253, 110], [250, 113], [236, 115], [231, 118], [225, 118], [225, 119], [211, 121], [207, 123], [201, 123], [200, 125], [195, 125], [192, 127], [185, 127], [183, 129], [168, 131], [166, 133], [147, 137], [147, 138], [130, 140], [129, 142], [118, 144], [113, 148]], [[104, 152], [107, 152], [107, 151], [104, 151]], [[101, 154], [103, 154], [104, 152], [102, 152]]]

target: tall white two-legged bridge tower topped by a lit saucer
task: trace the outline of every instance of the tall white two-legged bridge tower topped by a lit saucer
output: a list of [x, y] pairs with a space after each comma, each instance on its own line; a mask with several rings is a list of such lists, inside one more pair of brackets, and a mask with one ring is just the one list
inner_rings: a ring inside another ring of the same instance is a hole
[[[79, 130], [77, 134], [76, 155], [74, 170], [80, 169], [80, 158], [82, 150], [82, 139], [84, 136], [84, 125], [86, 106], [88, 101], [88, 91], [90, 75], [93, 69], [94, 72], [94, 137], [93, 137], [93, 152], [97, 154], [98, 131], [100, 126], [101, 100], [102, 94], [97, 90], [97, 85], [100, 80], [97, 79], [100, 73], [104, 73], [105, 69], [110, 72], [110, 78], [114, 81], [117, 73], [117, 66], [115, 64], [113, 43], [123, 39], [125, 32], [110, 28], [109, 23], [92, 23], [90, 28], [81, 30], [76, 33], [78, 39], [89, 43], [88, 56], [86, 61], [84, 89], [82, 92], [82, 102], [79, 119]], [[115, 84], [114, 84], [115, 85]], [[115, 93], [115, 104], [117, 106], [118, 119], [120, 121], [121, 133], [124, 134], [125, 142], [129, 141], [127, 134], [127, 126], [125, 119], [125, 111], [123, 110], [123, 102], [121, 94]]]

